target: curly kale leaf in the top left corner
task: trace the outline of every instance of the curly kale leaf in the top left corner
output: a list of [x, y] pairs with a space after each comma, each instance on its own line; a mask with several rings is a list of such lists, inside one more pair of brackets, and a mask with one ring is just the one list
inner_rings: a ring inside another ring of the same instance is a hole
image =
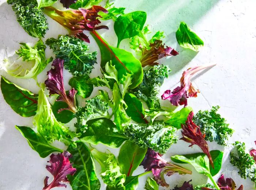
[[37, 8], [35, 0], [7, 0], [12, 4], [12, 10], [15, 12], [20, 26], [35, 38], [44, 37], [48, 26], [42, 9]]

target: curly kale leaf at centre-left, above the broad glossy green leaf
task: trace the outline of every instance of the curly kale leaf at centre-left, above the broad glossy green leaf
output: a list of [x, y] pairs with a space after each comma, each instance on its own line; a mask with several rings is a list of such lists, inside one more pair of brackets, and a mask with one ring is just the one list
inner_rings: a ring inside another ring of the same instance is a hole
[[110, 117], [108, 113], [108, 103], [101, 100], [101, 96], [95, 96], [86, 101], [84, 107], [79, 107], [76, 110], [75, 116], [78, 123], [75, 124], [76, 128], [81, 132], [85, 132], [87, 129], [86, 122], [91, 119], [97, 119], [100, 117]]

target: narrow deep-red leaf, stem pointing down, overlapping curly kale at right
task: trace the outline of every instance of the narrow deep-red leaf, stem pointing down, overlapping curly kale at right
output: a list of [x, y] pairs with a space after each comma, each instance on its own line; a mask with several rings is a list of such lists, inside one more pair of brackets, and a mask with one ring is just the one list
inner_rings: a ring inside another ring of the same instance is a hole
[[205, 135], [201, 133], [200, 127], [193, 123], [193, 115], [193, 111], [191, 111], [188, 115], [186, 124], [181, 124], [181, 128], [183, 129], [183, 131], [181, 131], [181, 134], [183, 136], [181, 140], [184, 140], [187, 143], [191, 143], [189, 147], [193, 146], [194, 144], [199, 146], [203, 150], [203, 152], [208, 156], [210, 163], [214, 168], [212, 158], [208, 149], [208, 144], [204, 139]]

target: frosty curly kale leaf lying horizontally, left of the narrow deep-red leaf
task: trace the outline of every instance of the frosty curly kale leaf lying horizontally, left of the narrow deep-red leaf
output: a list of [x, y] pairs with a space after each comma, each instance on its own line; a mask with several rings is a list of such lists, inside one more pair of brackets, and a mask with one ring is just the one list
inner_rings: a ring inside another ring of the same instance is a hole
[[128, 125], [125, 135], [142, 148], [165, 154], [170, 146], [177, 142], [176, 128], [165, 126], [164, 123], [155, 121], [153, 124]]

